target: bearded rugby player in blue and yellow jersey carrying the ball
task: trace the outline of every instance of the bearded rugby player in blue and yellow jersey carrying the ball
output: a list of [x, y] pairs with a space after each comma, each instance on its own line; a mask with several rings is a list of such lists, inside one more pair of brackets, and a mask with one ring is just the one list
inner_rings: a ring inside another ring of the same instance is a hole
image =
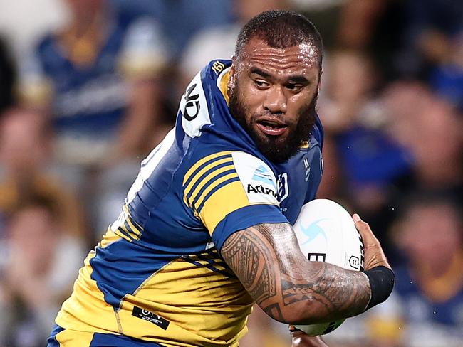
[[[360, 314], [393, 273], [368, 225], [365, 272], [309, 262], [291, 229], [323, 170], [322, 42], [266, 11], [233, 60], [194, 77], [176, 126], [142, 161], [123, 211], [85, 260], [48, 346], [238, 346], [257, 303], [286, 324]], [[297, 333], [294, 346], [325, 346]]]

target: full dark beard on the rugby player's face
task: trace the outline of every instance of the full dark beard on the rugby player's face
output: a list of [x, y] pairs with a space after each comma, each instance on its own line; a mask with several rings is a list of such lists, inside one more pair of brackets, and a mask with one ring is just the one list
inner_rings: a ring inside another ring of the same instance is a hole
[[253, 122], [255, 116], [260, 116], [262, 114], [253, 115], [253, 117], [250, 117], [250, 121], [246, 122], [246, 115], [250, 112], [249, 107], [239, 100], [239, 95], [239, 87], [236, 83], [230, 90], [230, 112], [241, 127], [251, 136], [257, 149], [259, 149], [261, 154], [264, 154], [266, 159], [269, 159], [269, 161], [275, 164], [284, 163], [297, 153], [304, 142], [308, 141], [308, 138], [311, 136], [313, 124], [316, 122], [315, 106], [318, 92], [313, 96], [313, 99], [308, 105], [304, 105], [298, 111], [298, 121], [296, 124], [290, 124], [288, 126], [286, 136], [259, 134], [257, 130], [254, 129], [251, 122]]

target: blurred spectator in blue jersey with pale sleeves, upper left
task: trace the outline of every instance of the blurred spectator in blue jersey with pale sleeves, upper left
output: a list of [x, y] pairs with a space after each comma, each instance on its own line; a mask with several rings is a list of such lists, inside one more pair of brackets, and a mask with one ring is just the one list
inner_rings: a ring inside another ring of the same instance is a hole
[[26, 105], [51, 115], [61, 175], [85, 200], [98, 193], [86, 205], [100, 232], [119, 213], [137, 154], [170, 127], [160, 106], [168, 53], [150, 18], [117, 12], [105, 0], [66, 4], [71, 23], [43, 38], [24, 63], [21, 91]]

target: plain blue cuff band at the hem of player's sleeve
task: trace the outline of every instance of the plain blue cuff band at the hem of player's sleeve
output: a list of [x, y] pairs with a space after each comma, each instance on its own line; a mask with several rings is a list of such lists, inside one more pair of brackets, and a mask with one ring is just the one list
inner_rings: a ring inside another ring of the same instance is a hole
[[221, 250], [227, 238], [239, 230], [261, 223], [289, 223], [277, 205], [249, 205], [229, 213], [212, 233], [212, 241]]

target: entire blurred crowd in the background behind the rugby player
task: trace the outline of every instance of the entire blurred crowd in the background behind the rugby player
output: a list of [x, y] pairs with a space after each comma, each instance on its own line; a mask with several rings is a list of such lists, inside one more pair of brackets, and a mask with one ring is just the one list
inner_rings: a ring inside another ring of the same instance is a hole
[[[241, 25], [293, 9], [325, 41], [318, 197], [358, 212], [390, 300], [330, 346], [463, 346], [461, 0], [0, 0], [0, 347], [43, 346], [183, 88]], [[259, 311], [240, 346], [289, 346]]]

